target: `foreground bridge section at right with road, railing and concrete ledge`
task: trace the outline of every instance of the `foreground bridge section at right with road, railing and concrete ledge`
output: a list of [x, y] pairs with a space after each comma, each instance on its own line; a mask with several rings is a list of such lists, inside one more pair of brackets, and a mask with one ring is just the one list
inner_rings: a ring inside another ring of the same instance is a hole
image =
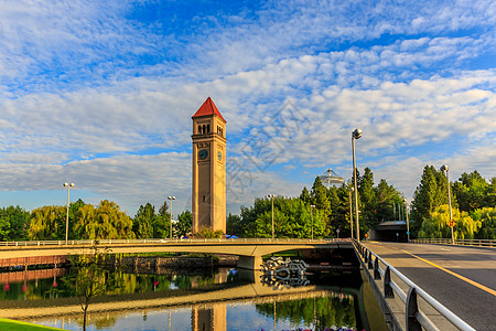
[[385, 242], [356, 247], [392, 330], [495, 330], [496, 248]]

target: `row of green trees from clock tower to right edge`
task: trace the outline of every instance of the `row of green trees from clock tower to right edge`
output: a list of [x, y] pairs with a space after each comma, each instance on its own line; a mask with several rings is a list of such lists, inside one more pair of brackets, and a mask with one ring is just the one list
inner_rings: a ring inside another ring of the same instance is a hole
[[[450, 185], [455, 237], [496, 238], [496, 178], [487, 182], [474, 171], [463, 173]], [[406, 221], [405, 195], [384, 179], [376, 185], [369, 168], [363, 175], [357, 174], [357, 188], [362, 236], [380, 222]], [[312, 189], [303, 188], [299, 197], [274, 197], [273, 216], [271, 200], [258, 197], [254, 206], [241, 206], [239, 216], [229, 214], [227, 232], [244, 237], [271, 237], [273, 218], [278, 238], [349, 236], [352, 189], [352, 181], [327, 189], [316, 178]], [[425, 166], [410, 207], [412, 237], [451, 236], [448, 181], [441, 170]]]

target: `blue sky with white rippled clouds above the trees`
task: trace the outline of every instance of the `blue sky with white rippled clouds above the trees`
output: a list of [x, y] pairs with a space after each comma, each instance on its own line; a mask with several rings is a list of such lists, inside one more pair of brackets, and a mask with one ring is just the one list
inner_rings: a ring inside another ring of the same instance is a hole
[[0, 207], [191, 210], [192, 119], [227, 120], [227, 212], [333, 169], [411, 201], [496, 177], [496, 2], [0, 0]]

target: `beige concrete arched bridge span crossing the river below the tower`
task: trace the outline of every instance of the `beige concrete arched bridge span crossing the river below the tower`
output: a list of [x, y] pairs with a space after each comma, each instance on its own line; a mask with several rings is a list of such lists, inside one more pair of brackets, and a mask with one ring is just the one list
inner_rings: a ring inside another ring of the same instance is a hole
[[[0, 259], [86, 255], [95, 249], [108, 254], [201, 253], [239, 256], [238, 267], [256, 270], [262, 256], [291, 249], [353, 249], [349, 239], [103, 239], [0, 243]], [[101, 248], [101, 249], [100, 249]]]

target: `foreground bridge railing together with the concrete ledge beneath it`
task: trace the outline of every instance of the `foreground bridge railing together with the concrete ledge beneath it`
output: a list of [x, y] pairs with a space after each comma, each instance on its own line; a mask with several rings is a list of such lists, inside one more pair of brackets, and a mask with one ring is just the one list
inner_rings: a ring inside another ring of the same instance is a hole
[[391, 330], [446, 330], [449, 322], [457, 330], [475, 331], [370, 249], [360, 243], [354, 245]]

